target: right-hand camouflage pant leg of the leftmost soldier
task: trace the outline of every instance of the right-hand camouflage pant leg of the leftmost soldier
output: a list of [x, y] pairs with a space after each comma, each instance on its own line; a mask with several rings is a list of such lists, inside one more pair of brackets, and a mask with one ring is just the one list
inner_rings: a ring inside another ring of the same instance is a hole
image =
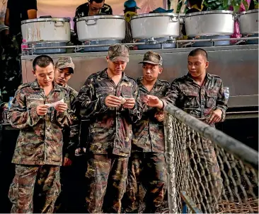
[[54, 203], [61, 191], [59, 170], [59, 166], [40, 166], [35, 184], [35, 213], [53, 213]]

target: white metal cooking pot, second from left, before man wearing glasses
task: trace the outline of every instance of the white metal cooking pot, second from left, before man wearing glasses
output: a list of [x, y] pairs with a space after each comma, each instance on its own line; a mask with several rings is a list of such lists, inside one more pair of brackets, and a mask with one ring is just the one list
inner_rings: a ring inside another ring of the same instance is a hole
[[125, 38], [124, 16], [87, 16], [76, 19], [79, 41], [123, 40]]

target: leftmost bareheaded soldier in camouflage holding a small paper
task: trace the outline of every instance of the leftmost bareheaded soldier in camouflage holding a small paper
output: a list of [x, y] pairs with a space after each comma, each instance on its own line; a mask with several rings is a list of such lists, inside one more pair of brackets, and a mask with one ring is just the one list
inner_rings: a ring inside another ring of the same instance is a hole
[[[62, 129], [74, 120], [74, 112], [68, 108], [67, 90], [53, 82], [52, 59], [45, 55], [36, 57], [33, 73], [36, 80], [19, 86], [8, 112], [11, 126], [21, 129], [12, 160], [16, 174], [9, 191], [11, 213], [33, 213], [33, 194], [38, 196], [38, 191], [42, 195], [36, 197], [37, 204], [42, 203], [40, 212], [53, 212], [60, 192]], [[64, 102], [50, 106], [62, 99]]]

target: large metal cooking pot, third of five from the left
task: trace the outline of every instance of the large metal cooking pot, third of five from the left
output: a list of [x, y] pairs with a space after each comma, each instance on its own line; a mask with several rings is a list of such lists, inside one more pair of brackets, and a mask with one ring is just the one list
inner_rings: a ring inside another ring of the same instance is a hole
[[133, 16], [132, 37], [145, 39], [151, 37], [178, 37], [180, 21], [175, 13], [149, 13]]

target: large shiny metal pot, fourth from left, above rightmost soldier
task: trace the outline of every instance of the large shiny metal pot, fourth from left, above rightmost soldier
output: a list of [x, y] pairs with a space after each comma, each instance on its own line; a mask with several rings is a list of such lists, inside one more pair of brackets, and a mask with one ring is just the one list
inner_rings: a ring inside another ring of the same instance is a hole
[[234, 33], [233, 11], [202, 11], [185, 15], [185, 30], [189, 37], [231, 35]]

